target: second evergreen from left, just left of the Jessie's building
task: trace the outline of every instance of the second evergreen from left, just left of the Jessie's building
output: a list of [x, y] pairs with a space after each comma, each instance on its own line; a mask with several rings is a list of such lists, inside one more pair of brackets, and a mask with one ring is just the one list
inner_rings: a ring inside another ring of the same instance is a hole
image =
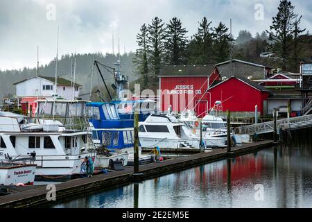
[[156, 83], [160, 69], [162, 69], [162, 66], [164, 65], [166, 28], [164, 28], [164, 22], [162, 22], [162, 19], [155, 17], [155, 19], [152, 20], [152, 24], [148, 25], [148, 31], [149, 60], [154, 72], [153, 81]]

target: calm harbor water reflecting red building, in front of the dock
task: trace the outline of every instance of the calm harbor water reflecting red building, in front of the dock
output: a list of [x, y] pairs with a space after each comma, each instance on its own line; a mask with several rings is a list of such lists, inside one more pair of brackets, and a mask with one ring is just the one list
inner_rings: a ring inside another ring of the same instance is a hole
[[[254, 187], [259, 184], [264, 200], [257, 201]], [[312, 207], [311, 131], [293, 135], [290, 145], [77, 196], [49, 207]]]

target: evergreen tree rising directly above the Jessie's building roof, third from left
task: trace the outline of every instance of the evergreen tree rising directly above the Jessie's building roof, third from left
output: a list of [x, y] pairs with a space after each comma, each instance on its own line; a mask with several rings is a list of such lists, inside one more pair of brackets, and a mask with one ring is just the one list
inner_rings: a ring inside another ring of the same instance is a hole
[[183, 65], [187, 60], [186, 28], [177, 17], [167, 24], [166, 31], [166, 63], [168, 65]]

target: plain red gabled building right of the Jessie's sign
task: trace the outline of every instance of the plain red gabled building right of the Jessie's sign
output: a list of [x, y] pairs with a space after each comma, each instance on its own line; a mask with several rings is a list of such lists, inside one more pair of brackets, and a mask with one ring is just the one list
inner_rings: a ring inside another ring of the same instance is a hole
[[211, 104], [221, 101], [223, 111], [254, 112], [255, 105], [258, 112], [263, 114], [267, 109], [267, 99], [270, 89], [258, 85], [247, 78], [234, 77], [209, 88]]

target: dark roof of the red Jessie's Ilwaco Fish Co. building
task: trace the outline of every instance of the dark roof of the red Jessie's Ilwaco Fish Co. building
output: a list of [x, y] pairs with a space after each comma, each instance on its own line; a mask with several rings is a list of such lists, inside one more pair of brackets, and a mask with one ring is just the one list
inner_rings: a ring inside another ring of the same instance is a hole
[[216, 65], [168, 65], [159, 76], [210, 76]]

